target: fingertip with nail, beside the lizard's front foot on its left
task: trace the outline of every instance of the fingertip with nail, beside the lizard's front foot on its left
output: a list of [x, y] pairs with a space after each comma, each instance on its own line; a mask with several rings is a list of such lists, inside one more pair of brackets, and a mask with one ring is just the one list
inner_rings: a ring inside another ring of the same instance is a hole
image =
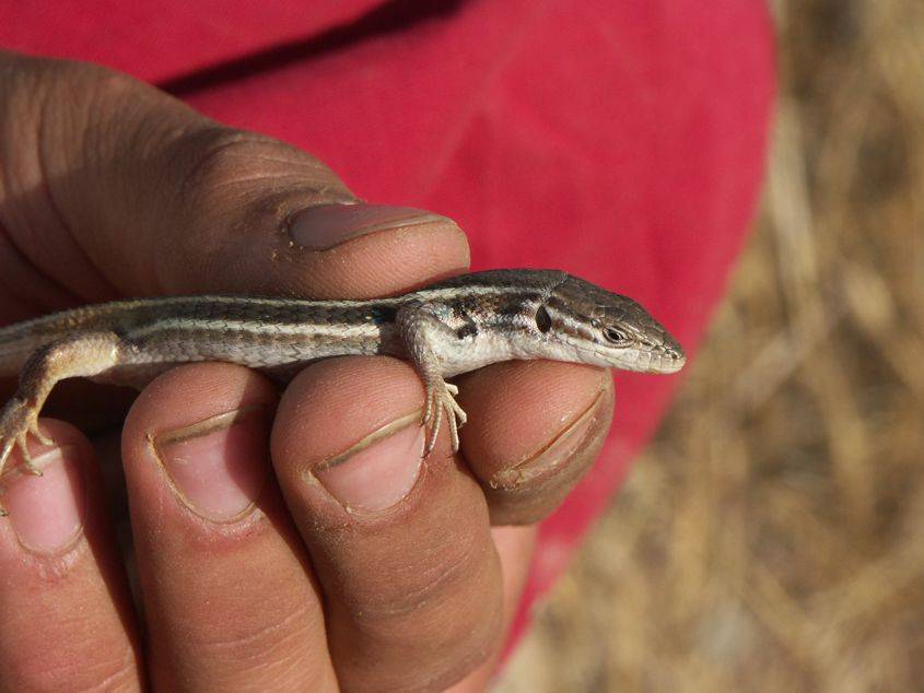
[[335, 522], [341, 513], [400, 503], [422, 463], [421, 397], [417, 374], [396, 359], [334, 359], [303, 371], [286, 389], [273, 426], [283, 490]]

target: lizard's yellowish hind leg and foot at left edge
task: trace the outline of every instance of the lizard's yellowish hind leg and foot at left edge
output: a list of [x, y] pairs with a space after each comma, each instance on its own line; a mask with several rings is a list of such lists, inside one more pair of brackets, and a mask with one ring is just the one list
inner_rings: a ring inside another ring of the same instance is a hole
[[[38, 413], [49, 392], [65, 378], [98, 375], [118, 363], [121, 340], [112, 332], [78, 332], [38, 349], [20, 374], [16, 394], [0, 412], [0, 474], [13, 446], [20, 448], [25, 468], [42, 475], [28, 454], [32, 434], [44, 445], [51, 445], [38, 430]], [[0, 507], [0, 515], [5, 512]]]

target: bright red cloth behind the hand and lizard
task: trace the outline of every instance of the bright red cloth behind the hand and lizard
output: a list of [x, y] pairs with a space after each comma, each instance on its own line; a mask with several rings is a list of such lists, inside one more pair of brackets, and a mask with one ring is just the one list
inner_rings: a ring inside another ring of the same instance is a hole
[[[475, 269], [566, 269], [688, 348], [753, 213], [774, 90], [769, 15], [740, 0], [0, 0], [0, 45], [160, 82], [361, 197], [455, 218]], [[612, 435], [543, 522], [525, 607], [676, 386], [617, 376]]]

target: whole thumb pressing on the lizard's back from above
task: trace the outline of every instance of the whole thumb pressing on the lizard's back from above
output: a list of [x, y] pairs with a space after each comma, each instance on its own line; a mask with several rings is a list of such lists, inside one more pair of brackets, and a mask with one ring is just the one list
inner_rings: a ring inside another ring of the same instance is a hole
[[0, 54], [0, 271], [38, 303], [367, 297], [468, 266], [451, 220], [364, 204], [314, 156], [96, 66]]

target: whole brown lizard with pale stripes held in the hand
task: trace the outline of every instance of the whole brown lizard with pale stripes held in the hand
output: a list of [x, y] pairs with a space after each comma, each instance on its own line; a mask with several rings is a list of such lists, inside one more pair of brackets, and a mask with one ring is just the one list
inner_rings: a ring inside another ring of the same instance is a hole
[[[302, 301], [246, 296], [142, 298], [85, 306], [0, 329], [0, 374], [20, 374], [0, 413], [0, 473], [58, 380], [143, 387], [180, 363], [226, 361], [286, 381], [312, 361], [389, 354], [410, 361], [426, 389], [424, 454], [445, 418], [453, 448], [466, 414], [446, 378], [514, 359], [675, 373], [676, 340], [627, 296], [558, 270], [464, 274], [402, 296]], [[1, 510], [0, 510], [1, 512]]]

